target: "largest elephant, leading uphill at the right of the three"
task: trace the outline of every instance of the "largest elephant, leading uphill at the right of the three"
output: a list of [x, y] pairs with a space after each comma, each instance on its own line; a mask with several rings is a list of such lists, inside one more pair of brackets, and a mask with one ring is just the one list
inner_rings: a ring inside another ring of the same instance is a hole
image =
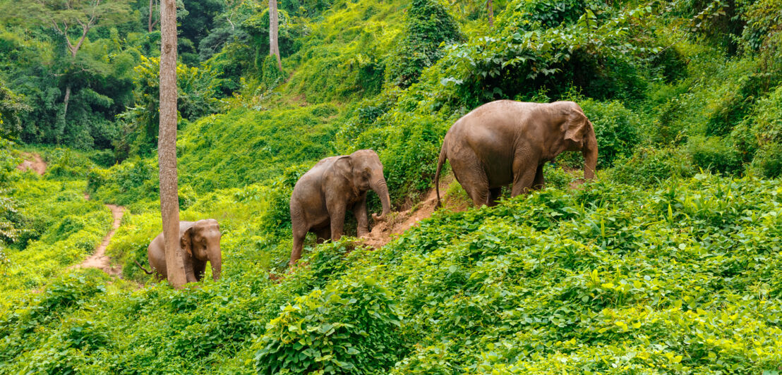
[[496, 205], [503, 186], [511, 196], [543, 187], [543, 165], [563, 151], [584, 157], [584, 177], [594, 178], [597, 138], [574, 102], [498, 100], [469, 112], [448, 130], [440, 149], [435, 187], [446, 159], [476, 206]]

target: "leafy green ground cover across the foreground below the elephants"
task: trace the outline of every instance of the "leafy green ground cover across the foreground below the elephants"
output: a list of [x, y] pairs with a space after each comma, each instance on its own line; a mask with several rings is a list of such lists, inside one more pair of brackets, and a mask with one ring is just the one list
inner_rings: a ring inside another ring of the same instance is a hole
[[247, 265], [136, 290], [78, 271], [5, 310], [3, 371], [760, 373], [782, 361], [780, 217], [778, 181], [698, 174], [437, 213], [278, 281]]

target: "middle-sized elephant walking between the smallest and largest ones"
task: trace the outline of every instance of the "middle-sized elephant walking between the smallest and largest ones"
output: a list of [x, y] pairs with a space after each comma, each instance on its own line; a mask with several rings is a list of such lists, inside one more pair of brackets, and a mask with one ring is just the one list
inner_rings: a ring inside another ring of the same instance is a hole
[[317, 243], [343, 235], [345, 213], [353, 211], [358, 222], [358, 237], [369, 233], [367, 191], [380, 197], [383, 211], [375, 220], [382, 220], [391, 210], [383, 166], [372, 150], [359, 150], [346, 156], [332, 156], [317, 162], [296, 182], [291, 195], [291, 227], [293, 250], [290, 264], [301, 258], [307, 232], [317, 235]]

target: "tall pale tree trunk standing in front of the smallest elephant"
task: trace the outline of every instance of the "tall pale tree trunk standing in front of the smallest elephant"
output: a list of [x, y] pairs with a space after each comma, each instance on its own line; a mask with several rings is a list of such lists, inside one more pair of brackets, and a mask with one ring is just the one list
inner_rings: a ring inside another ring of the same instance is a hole
[[168, 282], [181, 288], [185, 264], [179, 245], [179, 197], [177, 193], [177, 3], [163, 0], [160, 9], [160, 134], [157, 158], [160, 166], [160, 214], [166, 247]]

